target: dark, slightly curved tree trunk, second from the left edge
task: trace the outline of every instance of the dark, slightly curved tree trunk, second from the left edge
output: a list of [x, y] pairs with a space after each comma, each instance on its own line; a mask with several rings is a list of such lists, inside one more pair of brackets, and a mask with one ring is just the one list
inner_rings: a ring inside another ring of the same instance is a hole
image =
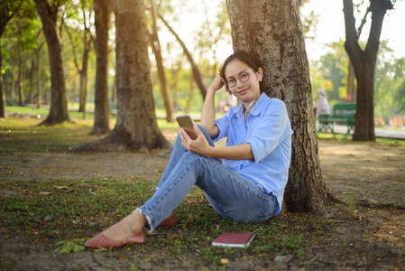
[[57, 9], [52, 10], [47, 0], [35, 0], [41, 16], [43, 33], [48, 44], [51, 67], [51, 108], [48, 117], [41, 123], [55, 125], [69, 121], [68, 100], [66, 97], [63, 70], [62, 48], [57, 27]]

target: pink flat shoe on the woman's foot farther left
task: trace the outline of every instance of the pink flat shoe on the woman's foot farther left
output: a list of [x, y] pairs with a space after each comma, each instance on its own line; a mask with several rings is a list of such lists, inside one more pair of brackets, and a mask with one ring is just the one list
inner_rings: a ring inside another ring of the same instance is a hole
[[134, 234], [133, 236], [121, 240], [112, 240], [110, 238], [107, 238], [106, 235], [101, 232], [97, 234], [97, 236], [95, 236], [94, 238], [87, 240], [87, 242], [85, 243], [85, 247], [111, 249], [124, 247], [126, 244], [129, 243], [143, 244], [144, 241], [145, 236], [143, 235], [142, 231], [137, 234]]

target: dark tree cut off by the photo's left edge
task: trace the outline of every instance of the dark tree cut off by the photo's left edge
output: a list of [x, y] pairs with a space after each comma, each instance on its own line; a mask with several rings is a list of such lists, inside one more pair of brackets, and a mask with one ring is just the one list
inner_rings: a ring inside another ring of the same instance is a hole
[[[5, 1], [0, 2], [0, 39], [5, 32], [5, 25], [13, 18], [14, 14], [18, 11], [22, 1]], [[0, 44], [0, 117], [7, 117], [5, 112], [5, 90], [3, 89], [3, 54]]]

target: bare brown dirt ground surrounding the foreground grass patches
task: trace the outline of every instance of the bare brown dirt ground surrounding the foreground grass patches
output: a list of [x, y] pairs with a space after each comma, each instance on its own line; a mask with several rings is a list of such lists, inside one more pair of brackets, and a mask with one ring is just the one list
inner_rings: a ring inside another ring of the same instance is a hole
[[[253, 269], [337, 269], [404, 270], [405, 269], [405, 146], [368, 143], [319, 141], [325, 182], [331, 192], [347, 206], [327, 207], [335, 231], [321, 244], [305, 249], [302, 257], [276, 257], [257, 261], [254, 258], [231, 261], [229, 270]], [[78, 153], [10, 153], [0, 154], [0, 182], [50, 179], [120, 179], [131, 176], [159, 182], [169, 152], [153, 154], [78, 154]], [[13, 197], [1, 191], [2, 197]], [[383, 207], [383, 208], [382, 208]], [[288, 214], [284, 220], [288, 220]], [[170, 230], [165, 236], [170, 236]], [[173, 229], [176, 230], [176, 229]], [[18, 233], [0, 229], [0, 266], [13, 270], [163, 270], [170, 259], [161, 257], [159, 248], [133, 253], [84, 251], [58, 255], [54, 244], [29, 242]], [[151, 238], [159, 238], [157, 236]], [[133, 248], [136, 249], [136, 248]], [[161, 258], [161, 264], [151, 261]], [[184, 256], [176, 269], [200, 269], [193, 266], [195, 252]], [[149, 259], [149, 260], [148, 260]], [[136, 266], [133, 263], [136, 262]], [[12, 266], [12, 267], [11, 267]]]

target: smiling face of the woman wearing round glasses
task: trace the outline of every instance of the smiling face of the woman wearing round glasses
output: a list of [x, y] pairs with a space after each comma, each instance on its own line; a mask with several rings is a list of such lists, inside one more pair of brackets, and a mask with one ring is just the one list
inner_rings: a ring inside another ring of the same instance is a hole
[[[241, 81], [248, 78], [246, 81]], [[247, 108], [253, 100], [257, 100], [260, 97], [260, 84], [262, 81], [262, 68], [254, 72], [253, 69], [245, 64], [243, 61], [234, 60], [228, 63], [225, 69], [226, 81], [229, 86], [227, 89], [243, 103]], [[232, 87], [233, 83], [235, 86]]]

